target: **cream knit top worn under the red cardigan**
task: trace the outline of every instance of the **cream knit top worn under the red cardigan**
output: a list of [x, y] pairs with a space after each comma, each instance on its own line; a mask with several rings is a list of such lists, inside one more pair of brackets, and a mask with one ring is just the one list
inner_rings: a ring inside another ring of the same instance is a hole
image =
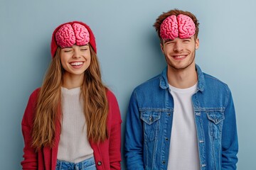
[[87, 140], [87, 126], [80, 98], [80, 87], [61, 87], [62, 123], [57, 159], [66, 162], [82, 162], [93, 157], [93, 150]]

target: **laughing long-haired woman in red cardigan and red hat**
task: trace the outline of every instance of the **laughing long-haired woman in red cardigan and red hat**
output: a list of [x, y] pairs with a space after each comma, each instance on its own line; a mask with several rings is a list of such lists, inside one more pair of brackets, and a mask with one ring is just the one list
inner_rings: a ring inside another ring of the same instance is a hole
[[53, 32], [52, 62], [23, 115], [23, 169], [121, 169], [121, 117], [85, 23]]

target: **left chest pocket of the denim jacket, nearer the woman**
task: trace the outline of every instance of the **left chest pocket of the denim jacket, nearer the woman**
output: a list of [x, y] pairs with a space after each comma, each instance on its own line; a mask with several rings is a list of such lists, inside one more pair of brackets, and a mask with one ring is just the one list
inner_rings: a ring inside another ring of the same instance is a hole
[[156, 111], [142, 111], [140, 118], [144, 126], [144, 140], [155, 140], [159, 132], [160, 112]]

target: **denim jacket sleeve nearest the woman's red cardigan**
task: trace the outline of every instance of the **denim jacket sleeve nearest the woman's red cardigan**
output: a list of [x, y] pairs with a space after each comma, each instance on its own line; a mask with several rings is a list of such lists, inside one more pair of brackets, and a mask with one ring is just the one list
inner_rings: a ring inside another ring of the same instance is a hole
[[136, 91], [133, 92], [127, 112], [124, 152], [129, 169], [144, 169], [143, 127], [139, 118]]

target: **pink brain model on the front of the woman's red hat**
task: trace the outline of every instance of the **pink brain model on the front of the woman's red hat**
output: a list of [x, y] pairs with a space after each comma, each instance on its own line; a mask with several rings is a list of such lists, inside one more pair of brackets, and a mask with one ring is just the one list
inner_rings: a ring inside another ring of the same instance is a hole
[[90, 35], [80, 23], [73, 23], [71, 26], [69, 23], [60, 27], [55, 33], [55, 40], [60, 47], [72, 47], [73, 45], [86, 45], [90, 42]]

